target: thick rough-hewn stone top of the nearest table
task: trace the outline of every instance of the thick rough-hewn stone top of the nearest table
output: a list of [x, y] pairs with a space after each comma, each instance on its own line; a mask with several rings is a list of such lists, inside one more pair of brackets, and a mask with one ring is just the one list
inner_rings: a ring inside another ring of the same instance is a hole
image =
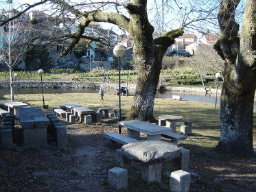
[[149, 165], [181, 156], [181, 148], [165, 141], [137, 141], [123, 145], [121, 150], [126, 158]]

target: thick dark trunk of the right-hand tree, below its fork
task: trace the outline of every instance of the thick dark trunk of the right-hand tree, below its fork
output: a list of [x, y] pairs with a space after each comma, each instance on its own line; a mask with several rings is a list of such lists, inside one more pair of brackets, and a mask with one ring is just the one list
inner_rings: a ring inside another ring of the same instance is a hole
[[[237, 156], [253, 156], [253, 100], [255, 82], [246, 87], [224, 78], [220, 99], [221, 132], [216, 146], [219, 152]], [[244, 85], [245, 86], [245, 85]]]

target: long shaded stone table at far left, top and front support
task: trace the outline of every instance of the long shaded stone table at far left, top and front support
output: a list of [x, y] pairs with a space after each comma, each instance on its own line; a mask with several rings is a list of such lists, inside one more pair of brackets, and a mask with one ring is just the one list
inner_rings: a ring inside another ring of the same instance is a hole
[[21, 108], [20, 123], [23, 128], [23, 141], [32, 147], [48, 147], [47, 126], [49, 119], [41, 108]]

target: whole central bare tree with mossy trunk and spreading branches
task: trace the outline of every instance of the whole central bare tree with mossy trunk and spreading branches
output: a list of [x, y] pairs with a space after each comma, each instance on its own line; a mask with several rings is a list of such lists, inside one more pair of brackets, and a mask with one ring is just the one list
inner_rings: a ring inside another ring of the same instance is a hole
[[[151, 1], [150, 1], [151, 2]], [[215, 2], [215, 1], [214, 1]], [[65, 12], [66, 15], [79, 19], [80, 23], [76, 32], [62, 34], [62, 38], [71, 38], [71, 43], [62, 53], [67, 55], [79, 42], [80, 38], [100, 40], [98, 37], [84, 35], [84, 29], [92, 21], [104, 22], [117, 25], [128, 32], [134, 40], [135, 64], [139, 69], [139, 77], [135, 90], [132, 108], [126, 114], [127, 119], [141, 119], [144, 121], [154, 121], [154, 95], [159, 82], [161, 64], [167, 48], [174, 43], [174, 38], [183, 34], [185, 27], [195, 27], [196, 23], [202, 21], [213, 21], [214, 15], [210, 7], [214, 8], [211, 1], [154, 1], [151, 8], [147, 0], [130, 1], [60, 1], [41, 0], [37, 4], [23, 6], [25, 8], [21, 14], [38, 4], [49, 3], [54, 10], [52, 17], [58, 18]], [[159, 4], [160, 3], [160, 4]], [[45, 7], [49, 6], [45, 5]], [[159, 37], [154, 38], [154, 27], [150, 23], [148, 15], [154, 10], [154, 5], [163, 7], [162, 10], [170, 10], [168, 21], [165, 14], [162, 14], [162, 27]], [[196, 9], [198, 5], [198, 9]], [[47, 7], [48, 8], [48, 7]], [[48, 8], [49, 10], [49, 8]], [[209, 11], [207, 13], [207, 11]], [[174, 18], [176, 17], [176, 19]], [[8, 22], [3, 21], [3, 23]]]

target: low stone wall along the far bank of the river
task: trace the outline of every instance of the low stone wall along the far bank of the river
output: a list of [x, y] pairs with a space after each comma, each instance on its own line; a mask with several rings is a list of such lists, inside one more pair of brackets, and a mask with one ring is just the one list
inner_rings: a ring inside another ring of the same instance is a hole
[[[106, 83], [101, 82], [75, 82], [75, 81], [43, 81], [44, 88], [97, 88], [104, 86], [104, 88], [115, 89], [119, 86], [117, 83]], [[136, 84], [127, 84], [121, 82], [121, 86], [128, 87], [129, 90], [134, 90]], [[17, 88], [40, 88], [40, 80], [33, 81], [19, 81], [14, 82], [14, 87]], [[0, 82], [0, 88], [10, 88], [10, 82]], [[205, 93], [204, 88], [190, 87], [190, 86], [161, 86], [163, 91], [181, 91], [181, 92], [192, 92], [192, 93]], [[208, 93], [216, 93], [216, 88], [207, 88]], [[218, 93], [221, 93], [220, 88]]]

